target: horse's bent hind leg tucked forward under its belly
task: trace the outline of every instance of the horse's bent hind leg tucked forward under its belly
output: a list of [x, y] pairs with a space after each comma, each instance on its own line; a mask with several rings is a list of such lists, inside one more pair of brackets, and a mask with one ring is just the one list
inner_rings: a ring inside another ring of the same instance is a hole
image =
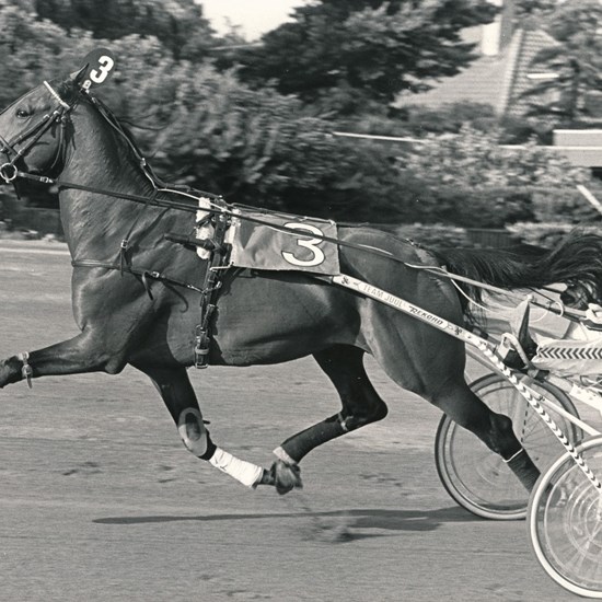
[[343, 408], [338, 414], [293, 435], [275, 450], [279, 461], [273, 466], [273, 472], [279, 493], [301, 485], [298, 463], [311, 450], [386, 416], [386, 405], [366, 374], [363, 355], [361, 349], [347, 345], [314, 354], [317, 363], [337, 389]]

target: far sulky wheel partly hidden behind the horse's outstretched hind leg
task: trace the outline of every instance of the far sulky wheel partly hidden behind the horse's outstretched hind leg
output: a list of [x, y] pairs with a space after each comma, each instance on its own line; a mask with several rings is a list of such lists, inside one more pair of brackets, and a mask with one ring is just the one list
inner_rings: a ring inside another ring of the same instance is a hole
[[[548, 383], [530, 386], [578, 416], [572, 402], [557, 387]], [[545, 422], [502, 375], [482, 377], [471, 384], [471, 389], [494, 412], [512, 419], [517, 437], [542, 472], [563, 452], [562, 444]], [[580, 440], [580, 429], [555, 412], [549, 410], [549, 414], [570, 441]], [[448, 416], [441, 418], [437, 429], [435, 460], [447, 491], [466, 510], [486, 519], [525, 518], [529, 494], [519, 479], [498, 454]]]

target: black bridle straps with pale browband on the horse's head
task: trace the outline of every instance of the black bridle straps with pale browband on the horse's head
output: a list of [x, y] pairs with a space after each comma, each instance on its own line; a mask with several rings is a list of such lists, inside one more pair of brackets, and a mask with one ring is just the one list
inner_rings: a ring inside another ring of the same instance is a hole
[[[46, 131], [48, 131], [55, 124], [60, 124], [60, 132], [57, 151], [55, 154], [55, 159], [53, 160], [53, 163], [50, 164], [50, 167], [48, 170], [49, 172], [51, 172], [56, 167], [61, 157], [63, 155], [65, 129], [67, 127], [69, 113], [76, 106], [77, 101], [72, 104], [69, 104], [59, 96], [59, 94], [47, 81], [44, 82], [44, 85], [48, 89], [48, 92], [56, 100], [56, 108], [51, 113], [46, 113], [35, 124], [31, 125], [27, 129], [25, 129], [25, 131], [22, 131], [12, 140], [7, 140], [0, 135], [0, 150], [7, 155], [7, 162], [0, 165], [0, 177], [7, 183], [13, 182], [19, 175], [16, 162], [21, 158], [25, 157], [27, 152], [30, 152], [30, 150], [35, 147], [42, 136], [44, 136], [44, 134], [46, 134]], [[18, 148], [18, 146], [22, 142], [25, 143]]]

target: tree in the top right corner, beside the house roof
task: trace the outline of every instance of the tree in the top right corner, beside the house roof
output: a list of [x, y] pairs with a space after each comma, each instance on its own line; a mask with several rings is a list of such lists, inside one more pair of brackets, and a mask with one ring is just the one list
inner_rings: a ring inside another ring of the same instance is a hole
[[571, 127], [588, 115], [583, 99], [602, 86], [602, 5], [598, 0], [571, 0], [548, 14], [546, 31], [555, 46], [541, 50], [532, 69], [549, 73], [532, 86], [530, 116], [546, 117], [551, 126]]

